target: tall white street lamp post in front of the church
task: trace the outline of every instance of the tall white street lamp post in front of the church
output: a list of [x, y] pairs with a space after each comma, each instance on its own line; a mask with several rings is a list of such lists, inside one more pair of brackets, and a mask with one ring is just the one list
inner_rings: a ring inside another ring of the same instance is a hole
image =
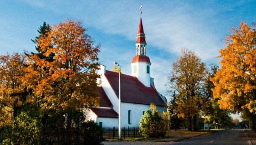
[[118, 93], [118, 97], [119, 97], [119, 101], [118, 101], [118, 114], [119, 114], [119, 118], [118, 118], [118, 135], [119, 135], [119, 139], [122, 139], [122, 127], [121, 127], [121, 66], [114, 61], [114, 64], [116, 64], [117, 66], [120, 67], [119, 69], [119, 93]]

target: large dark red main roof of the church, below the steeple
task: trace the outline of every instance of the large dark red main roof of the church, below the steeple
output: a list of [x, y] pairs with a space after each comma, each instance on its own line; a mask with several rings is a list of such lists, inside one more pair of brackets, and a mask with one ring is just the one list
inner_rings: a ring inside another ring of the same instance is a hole
[[[119, 73], [106, 70], [105, 76], [118, 97]], [[146, 105], [154, 103], [158, 106], [164, 106], [164, 101], [152, 86], [146, 87], [135, 76], [125, 74], [121, 74], [121, 101]]]

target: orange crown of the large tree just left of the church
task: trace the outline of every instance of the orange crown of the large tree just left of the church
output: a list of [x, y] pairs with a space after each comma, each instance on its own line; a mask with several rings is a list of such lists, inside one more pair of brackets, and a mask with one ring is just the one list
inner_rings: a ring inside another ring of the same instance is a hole
[[[27, 87], [33, 89], [33, 101], [42, 110], [58, 112], [68, 108], [97, 106], [95, 71], [98, 69], [99, 45], [80, 21], [64, 20], [37, 38], [38, 51], [29, 56], [26, 68]], [[45, 58], [53, 56], [49, 61]]]

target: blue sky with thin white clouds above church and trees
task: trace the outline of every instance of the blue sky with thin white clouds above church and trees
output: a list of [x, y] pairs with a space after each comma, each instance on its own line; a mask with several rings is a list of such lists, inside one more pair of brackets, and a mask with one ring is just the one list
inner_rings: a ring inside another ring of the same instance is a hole
[[217, 64], [231, 27], [256, 21], [255, 0], [1, 0], [0, 54], [35, 52], [30, 39], [43, 22], [69, 18], [81, 20], [95, 44], [101, 44], [98, 57], [107, 70], [117, 61], [130, 75], [141, 5], [151, 77], [166, 96], [167, 76], [181, 49], [194, 51], [207, 66]]

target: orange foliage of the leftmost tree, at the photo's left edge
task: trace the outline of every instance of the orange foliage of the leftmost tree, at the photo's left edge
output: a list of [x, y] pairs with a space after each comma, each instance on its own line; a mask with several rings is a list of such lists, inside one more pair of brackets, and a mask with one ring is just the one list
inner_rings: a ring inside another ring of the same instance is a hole
[[0, 127], [10, 125], [26, 102], [25, 56], [19, 53], [0, 56]]

